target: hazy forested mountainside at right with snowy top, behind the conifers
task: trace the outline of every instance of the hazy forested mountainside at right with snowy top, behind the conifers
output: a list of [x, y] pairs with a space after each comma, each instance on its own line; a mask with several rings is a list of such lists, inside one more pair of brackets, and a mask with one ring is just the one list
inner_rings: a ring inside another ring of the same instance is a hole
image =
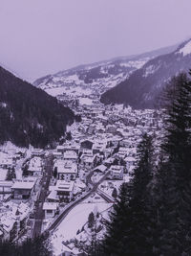
[[104, 104], [127, 104], [138, 108], [153, 107], [166, 82], [181, 71], [191, 69], [191, 39], [170, 54], [147, 61], [127, 80], [103, 93]]

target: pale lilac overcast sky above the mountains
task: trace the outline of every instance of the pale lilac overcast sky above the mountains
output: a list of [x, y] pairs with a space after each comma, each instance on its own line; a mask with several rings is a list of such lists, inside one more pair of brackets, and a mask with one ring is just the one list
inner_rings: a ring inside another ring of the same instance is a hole
[[33, 81], [191, 37], [191, 0], [0, 0], [0, 63]]

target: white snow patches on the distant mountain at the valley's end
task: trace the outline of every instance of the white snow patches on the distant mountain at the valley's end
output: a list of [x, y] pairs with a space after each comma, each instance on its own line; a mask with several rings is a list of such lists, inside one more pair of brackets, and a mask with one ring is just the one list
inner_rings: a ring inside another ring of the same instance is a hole
[[[132, 67], [134, 70], [140, 68], [148, 58], [141, 58], [138, 60], [127, 60], [120, 63], [121, 67]], [[65, 73], [60, 73], [52, 76], [51, 78], [46, 78], [38, 84], [38, 87], [45, 90], [48, 94], [56, 97], [60, 95], [67, 95], [67, 97], [83, 97], [89, 96], [91, 94], [99, 95], [106, 91], [108, 88], [112, 88], [117, 85], [117, 83], [124, 81], [133, 72], [129, 71], [118, 71], [119, 74], [110, 74], [109, 69], [114, 68], [115, 64], [105, 63], [100, 68], [100, 74], [105, 74], [104, 78], [96, 78], [90, 82], [84, 80], [79, 80], [77, 74], [68, 75], [67, 71]], [[86, 68], [89, 69], [89, 68]], [[86, 70], [85, 69], [85, 70]], [[90, 105], [90, 104], [88, 104]]]

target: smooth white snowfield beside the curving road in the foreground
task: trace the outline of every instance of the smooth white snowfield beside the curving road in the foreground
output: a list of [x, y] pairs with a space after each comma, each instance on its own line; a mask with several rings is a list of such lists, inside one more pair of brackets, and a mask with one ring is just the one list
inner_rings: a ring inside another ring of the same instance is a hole
[[60, 223], [55, 232], [53, 232], [52, 244], [54, 255], [62, 252], [62, 241], [73, 239], [78, 229], [88, 221], [91, 212], [105, 211], [111, 207], [111, 203], [80, 203], [68, 214], [68, 216]]

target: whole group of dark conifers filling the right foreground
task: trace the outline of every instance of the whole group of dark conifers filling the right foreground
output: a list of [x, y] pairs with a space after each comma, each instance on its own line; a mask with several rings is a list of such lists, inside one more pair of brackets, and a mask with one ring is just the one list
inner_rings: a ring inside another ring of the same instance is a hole
[[158, 164], [145, 134], [135, 173], [122, 184], [105, 238], [91, 255], [191, 255], [191, 81], [181, 73], [167, 88]]

